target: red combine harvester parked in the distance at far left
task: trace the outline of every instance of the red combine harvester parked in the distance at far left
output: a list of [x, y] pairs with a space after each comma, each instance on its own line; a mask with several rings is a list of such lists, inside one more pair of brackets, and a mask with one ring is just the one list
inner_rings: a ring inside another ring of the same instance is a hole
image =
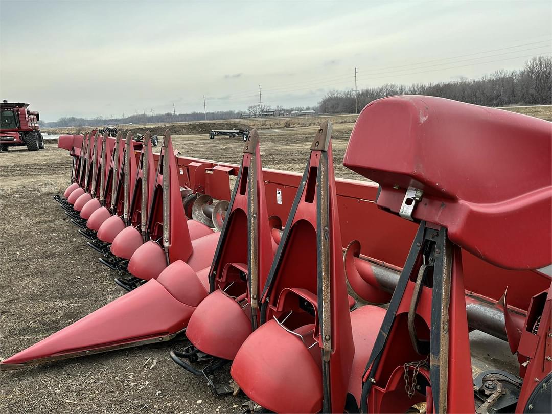
[[39, 113], [28, 109], [29, 104], [0, 103], [0, 151], [26, 145], [29, 151], [44, 148], [44, 138], [38, 125]]

